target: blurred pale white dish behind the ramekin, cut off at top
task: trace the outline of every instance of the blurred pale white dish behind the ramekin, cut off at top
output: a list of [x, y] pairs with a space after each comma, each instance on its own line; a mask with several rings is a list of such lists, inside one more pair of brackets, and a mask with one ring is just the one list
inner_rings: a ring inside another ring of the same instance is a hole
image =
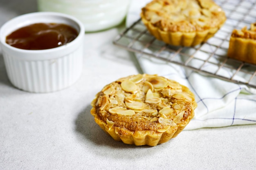
[[130, 0], [37, 0], [39, 11], [66, 13], [78, 18], [85, 31], [100, 31], [120, 24]]

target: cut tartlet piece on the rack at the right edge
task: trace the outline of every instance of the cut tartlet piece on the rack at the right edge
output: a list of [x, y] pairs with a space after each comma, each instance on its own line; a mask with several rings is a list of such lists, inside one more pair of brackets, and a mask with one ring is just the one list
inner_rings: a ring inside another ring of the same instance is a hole
[[249, 30], [245, 26], [241, 30], [232, 31], [227, 55], [236, 60], [256, 64], [256, 23], [251, 24]]

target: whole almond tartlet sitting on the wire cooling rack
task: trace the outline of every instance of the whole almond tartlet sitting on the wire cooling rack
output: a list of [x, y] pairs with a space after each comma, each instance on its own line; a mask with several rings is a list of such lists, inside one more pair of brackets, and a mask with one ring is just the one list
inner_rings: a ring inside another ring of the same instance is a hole
[[141, 20], [158, 40], [174, 46], [195, 46], [211, 38], [226, 21], [212, 0], [153, 0]]

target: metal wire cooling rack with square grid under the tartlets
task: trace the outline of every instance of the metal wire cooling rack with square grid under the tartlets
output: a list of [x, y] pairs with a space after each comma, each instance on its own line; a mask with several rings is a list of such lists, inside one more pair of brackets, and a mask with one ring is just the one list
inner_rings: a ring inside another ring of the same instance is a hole
[[256, 65], [227, 57], [233, 29], [242, 29], [244, 26], [250, 28], [250, 24], [256, 22], [256, 2], [216, 0], [216, 3], [225, 11], [227, 20], [212, 38], [198, 46], [171, 46], [156, 40], [147, 31], [141, 19], [120, 33], [113, 43], [128, 51], [256, 88]]

